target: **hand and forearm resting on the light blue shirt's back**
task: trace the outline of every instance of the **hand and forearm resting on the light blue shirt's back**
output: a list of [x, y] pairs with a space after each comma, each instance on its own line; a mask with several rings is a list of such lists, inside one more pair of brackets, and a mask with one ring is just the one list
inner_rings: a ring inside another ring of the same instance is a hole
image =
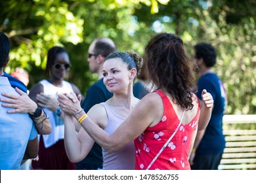
[[[34, 114], [35, 110], [37, 110], [37, 104], [28, 97], [28, 94], [22, 92], [22, 90], [15, 88], [16, 92], [20, 95], [12, 95], [9, 93], [2, 93], [3, 96], [8, 98], [1, 98], [0, 101], [4, 102], [2, 104], [3, 107], [10, 107], [14, 108], [12, 110], [8, 110], [8, 113], [29, 113]], [[37, 129], [39, 134], [45, 135], [51, 133], [51, 124], [49, 119], [45, 119], [45, 114], [42, 112], [41, 116], [38, 118], [33, 119], [35, 124], [37, 124]], [[44, 120], [42, 122], [42, 120]]]

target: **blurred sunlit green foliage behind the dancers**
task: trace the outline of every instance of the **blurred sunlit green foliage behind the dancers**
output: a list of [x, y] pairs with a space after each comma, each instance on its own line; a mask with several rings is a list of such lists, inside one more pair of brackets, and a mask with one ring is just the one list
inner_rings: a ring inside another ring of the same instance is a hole
[[68, 80], [81, 92], [96, 80], [87, 50], [96, 37], [110, 37], [118, 50], [143, 54], [155, 33], [182, 37], [188, 54], [197, 42], [217, 48], [215, 71], [228, 92], [228, 114], [256, 112], [256, 3], [203, 0], [0, 0], [0, 31], [11, 40], [11, 61], [30, 73], [29, 88], [45, 78], [47, 50], [62, 45], [72, 63]]

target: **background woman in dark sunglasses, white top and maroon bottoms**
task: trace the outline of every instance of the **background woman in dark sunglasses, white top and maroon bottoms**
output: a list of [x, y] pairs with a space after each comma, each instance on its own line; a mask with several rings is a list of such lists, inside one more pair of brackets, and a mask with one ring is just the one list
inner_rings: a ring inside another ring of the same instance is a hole
[[30, 98], [41, 107], [50, 119], [52, 133], [41, 135], [39, 140], [39, 153], [32, 161], [32, 169], [66, 170], [75, 169], [75, 163], [70, 162], [64, 148], [64, 122], [63, 112], [58, 107], [56, 96], [58, 93], [81, 92], [74, 84], [64, 80], [70, 71], [70, 59], [66, 50], [54, 46], [47, 54], [46, 73], [48, 80], [41, 80], [30, 90]]

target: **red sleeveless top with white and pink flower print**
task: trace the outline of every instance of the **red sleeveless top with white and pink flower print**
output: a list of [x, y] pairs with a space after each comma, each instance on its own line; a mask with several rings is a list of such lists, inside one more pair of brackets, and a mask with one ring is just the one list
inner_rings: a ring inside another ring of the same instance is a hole
[[[135, 169], [137, 170], [144, 170], [148, 167], [152, 159], [155, 158], [156, 154], [158, 154], [165, 142], [167, 142], [179, 125], [179, 118], [167, 96], [160, 90], [157, 90], [156, 92], [158, 92], [163, 100], [163, 118], [157, 125], [148, 127], [137, 139], [135, 139]], [[188, 163], [190, 141], [192, 133], [198, 126], [199, 116], [200, 103], [198, 101], [198, 112], [194, 119], [186, 125], [181, 124], [173, 139], [167, 144], [150, 169], [190, 169], [190, 164]]]

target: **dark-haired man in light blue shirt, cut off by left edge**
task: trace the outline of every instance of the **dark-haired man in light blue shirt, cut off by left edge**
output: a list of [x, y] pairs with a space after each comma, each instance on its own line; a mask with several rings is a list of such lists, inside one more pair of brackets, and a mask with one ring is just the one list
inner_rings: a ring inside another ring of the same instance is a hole
[[[9, 62], [9, 38], [0, 32], [0, 96], [5, 93], [17, 95], [3, 69]], [[6, 105], [6, 104], [5, 104]], [[11, 108], [14, 109], [14, 108]], [[37, 129], [28, 114], [9, 114], [10, 108], [3, 107], [0, 101], [0, 169], [20, 169], [22, 159], [35, 158], [38, 152]]]

